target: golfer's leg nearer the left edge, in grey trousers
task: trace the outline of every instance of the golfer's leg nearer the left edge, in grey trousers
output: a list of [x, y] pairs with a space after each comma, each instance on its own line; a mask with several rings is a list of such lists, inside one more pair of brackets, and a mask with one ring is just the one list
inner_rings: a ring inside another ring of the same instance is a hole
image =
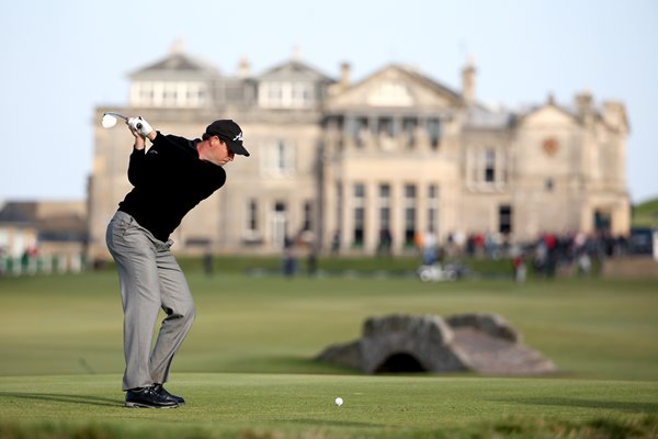
[[134, 224], [107, 229], [107, 247], [116, 262], [124, 309], [123, 389], [151, 385], [149, 358], [154, 329], [160, 311], [156, 250]]

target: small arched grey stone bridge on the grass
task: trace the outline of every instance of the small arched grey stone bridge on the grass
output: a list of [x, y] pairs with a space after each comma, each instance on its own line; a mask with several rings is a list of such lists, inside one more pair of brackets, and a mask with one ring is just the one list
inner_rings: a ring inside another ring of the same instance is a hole
[[332, 345], [318, 360], [365, 373], [454, 372], [534, 375], [555, 364], [525, 346], [501, 316], [394, 314], [371, 317], [361, 339]]

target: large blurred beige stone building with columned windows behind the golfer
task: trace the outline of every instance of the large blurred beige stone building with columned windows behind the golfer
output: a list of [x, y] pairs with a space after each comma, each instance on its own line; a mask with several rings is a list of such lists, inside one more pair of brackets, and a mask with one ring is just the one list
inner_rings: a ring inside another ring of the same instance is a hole
[[[236, 75], [179, 49], [131, 75], [126, 106], [162, 133], [200, 137], [216, 119], [234, 119], [251, 157], [226, 167], [225, 188], [175, 230], [174, 249], [194, 254], [279, 252], [305, 232], [318, 251], [376, 251], [383, 233], [394, 254], [418, 235], [440, 243], [470, 233], [529, 241], [542, 232], [599, 229], [626, 235], [624, 105], [520, 110], [478, 103], [476, 71], [451, 90], [405, 66], [384, 66], [352, 82], [349, 65], [333, 79], [299, 59]], [[546, 85], [549, 87], [549, 85]], [[105, 226], [131, 189], [131, 137], [95, 124], [89, 185], [90, 257], [106, 258]], [[175, 169], [169, 170], [175, 172]]]

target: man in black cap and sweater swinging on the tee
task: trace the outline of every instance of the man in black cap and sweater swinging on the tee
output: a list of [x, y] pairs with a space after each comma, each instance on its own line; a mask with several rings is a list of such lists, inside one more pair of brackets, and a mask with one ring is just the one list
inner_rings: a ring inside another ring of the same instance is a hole
[[[118, 270], [124, 311], [125, 405], [178, 407], [185, 401], [162, 385], [195, 308], [169, 235], [188, 212], [224, 185], [223, 167], [249, 153], [242, 131], [229, 120], [213, 122], [202, 139], [194, 140], [163, 135], [141, 117], [126, 124], [135, 137], [128, 166], [134, 188], [118, 204], [105, 237]], [[152, 143], [148, 151], [147, 138]], [[160, 308], [167, 316], [151, 349]]]

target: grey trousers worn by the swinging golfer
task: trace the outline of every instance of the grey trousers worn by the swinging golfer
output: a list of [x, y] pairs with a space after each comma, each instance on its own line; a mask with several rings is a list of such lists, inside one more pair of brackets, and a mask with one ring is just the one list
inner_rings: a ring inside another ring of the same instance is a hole
[[[173, 243], [156, 239], [124, 212], [110, 222], [105, 240], [118, 270], [124, 311], [123, 389], [163, 384], [195, 316], [188, 281], [170, 251]], [[154, 346], [160, 308], [167, 316]]]

